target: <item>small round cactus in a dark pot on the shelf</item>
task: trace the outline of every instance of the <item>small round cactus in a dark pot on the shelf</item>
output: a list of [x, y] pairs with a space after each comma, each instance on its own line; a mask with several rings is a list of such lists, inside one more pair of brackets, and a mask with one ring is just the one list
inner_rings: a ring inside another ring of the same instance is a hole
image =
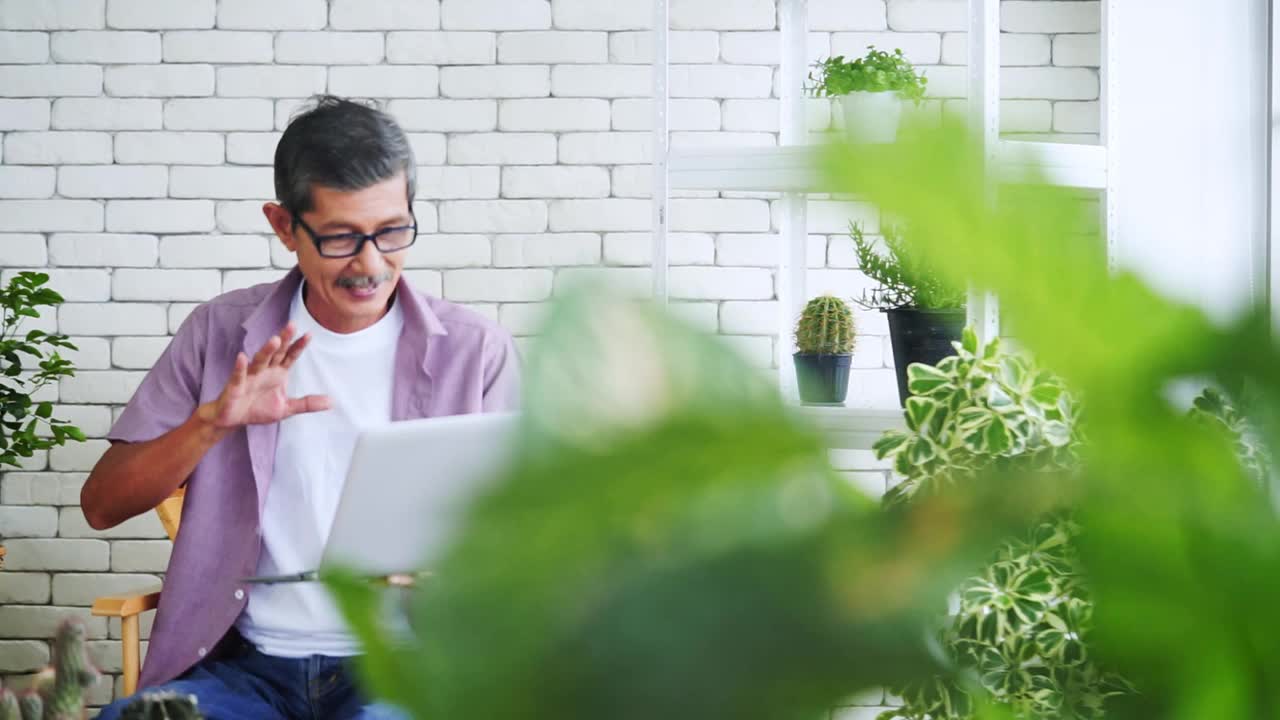
[[796, 384], [800, 401], [844, 405], [854, 356], [854, 311], [835, 296], [814, 297], [796, 323]]

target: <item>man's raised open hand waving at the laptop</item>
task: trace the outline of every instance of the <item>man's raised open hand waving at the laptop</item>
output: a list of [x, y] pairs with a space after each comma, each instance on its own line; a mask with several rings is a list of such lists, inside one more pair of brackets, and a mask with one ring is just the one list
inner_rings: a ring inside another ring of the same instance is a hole
[[236, 366], [218, 400], [209, 404], [206, 419], [215, 428], [232, 429], [239, 425], [275, 423], [298, 413], [316, 413], [329, 409], [329, 397], [308, 395], [289, 397], [289, 366], [307, 347], [310, 336], [293, 340], [293, 323], [284, 325], [279, 334], [266, 341], [253, 361], [241, 352]]

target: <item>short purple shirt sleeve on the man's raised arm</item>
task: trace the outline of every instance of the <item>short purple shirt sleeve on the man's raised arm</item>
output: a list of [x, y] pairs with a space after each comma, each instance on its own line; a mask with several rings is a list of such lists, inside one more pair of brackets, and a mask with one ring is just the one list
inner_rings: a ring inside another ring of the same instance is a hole
[[207, 310], [205, 306], [196, 307], [147, 372], [106, 439], [146, 442], [191, 418], [200, 404], [207, 331]]

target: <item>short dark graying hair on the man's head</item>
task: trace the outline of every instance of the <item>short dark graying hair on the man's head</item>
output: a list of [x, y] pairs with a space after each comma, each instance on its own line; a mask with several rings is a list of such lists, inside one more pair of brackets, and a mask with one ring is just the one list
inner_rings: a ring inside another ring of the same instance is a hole
[[413, 149], [387, 113], [320, 95], [289, 120], [275, 146], [275, 199], [294, 215], [312, 208], [311, 187], [364, 190], [403, 172], [412, 206], [417, 190]]

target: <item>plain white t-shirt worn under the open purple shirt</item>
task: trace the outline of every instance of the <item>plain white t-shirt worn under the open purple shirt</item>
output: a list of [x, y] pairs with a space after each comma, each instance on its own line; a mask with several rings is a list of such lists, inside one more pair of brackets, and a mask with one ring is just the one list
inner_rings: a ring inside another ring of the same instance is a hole
[[[390, 421], [396, 345], [404, 318], [398, 302], [362, 331], [339, 334], [321, 327], [302, 301], [289, 307], [297, 336], [311, 343], [289, 369], [288, 395], [328, 395], [332, 407], [283, 420], [275, 468], [262, 509], [259, 575], [315, 570], [333, 527], [347, 466], [361, 429]], [[319, 583], [250, 585], [236, 623], [266, 655], [349, 656], [360, 652], [337, 607]]]

